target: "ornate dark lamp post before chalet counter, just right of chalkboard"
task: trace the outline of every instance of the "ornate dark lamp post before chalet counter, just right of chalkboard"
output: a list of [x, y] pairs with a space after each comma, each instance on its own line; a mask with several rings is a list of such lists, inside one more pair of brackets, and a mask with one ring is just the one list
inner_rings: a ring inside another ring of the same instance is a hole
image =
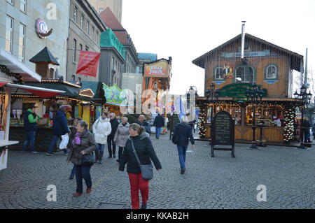
[[253, 126], [251, 127], [253, 129], [253, 140], [251, 142], [251, 147], [248, 148], [248, 150], [260, 150], [260, 148], [257, 147], [257, 143], [255, 141], [255, 129], [256, 122], [255, 122], [255, 106], [262, 101], [262, 88], [258, 87], [256, 83], [254, 82], [251, 88], [248, 88], [246, 91], [246, 97], [248, 103], [253, 104]]

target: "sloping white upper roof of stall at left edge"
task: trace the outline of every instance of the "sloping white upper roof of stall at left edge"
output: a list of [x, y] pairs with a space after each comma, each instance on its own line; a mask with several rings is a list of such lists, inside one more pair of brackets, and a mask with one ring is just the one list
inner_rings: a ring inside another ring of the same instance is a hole
[[41, 75], [29, 69], [16, 57], [0, 48], [0, 65], [6, 66], [12, 73], [19, 73], [23, 81], [41, 81]]

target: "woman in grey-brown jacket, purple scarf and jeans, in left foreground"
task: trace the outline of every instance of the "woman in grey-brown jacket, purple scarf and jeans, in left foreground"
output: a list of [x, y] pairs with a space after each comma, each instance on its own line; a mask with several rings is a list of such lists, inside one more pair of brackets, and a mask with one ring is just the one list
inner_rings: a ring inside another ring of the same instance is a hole
[[94, 135], [87, 129], [87, 123], [79, 121], [76, 125], [76, 135], [70, 138], [72, 148], [68, 155], [68, 162], [74, 164], [74, 173], [76, 174], [76, 193], [73, 196], [83, 194], [83, 178], [86, 184], [86, 193], [92, 191], [92, 179], [90, 168], [94, 164], [95, 139]]

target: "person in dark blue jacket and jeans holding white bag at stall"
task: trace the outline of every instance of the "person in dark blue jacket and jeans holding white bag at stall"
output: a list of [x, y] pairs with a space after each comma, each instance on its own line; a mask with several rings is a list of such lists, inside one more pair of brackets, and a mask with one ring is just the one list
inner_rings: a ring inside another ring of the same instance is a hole
[[[69, 134], [70, 130], [68, 127], [68, 120], [66, 119], [66, 110], [69, 108], [68, 106], [60, 106], [59, 110], [56, 113], [56, 116], [52, 120], [52, 133], [54, 137], [49, 146], [49, 150], [47, 152], [48, 156], [52, 156], [52, 151], [55, 148], [55, 145], [61, 136], [65, 134]], [[66, 149], [64, 149], [64, 154], [68, 154]]]

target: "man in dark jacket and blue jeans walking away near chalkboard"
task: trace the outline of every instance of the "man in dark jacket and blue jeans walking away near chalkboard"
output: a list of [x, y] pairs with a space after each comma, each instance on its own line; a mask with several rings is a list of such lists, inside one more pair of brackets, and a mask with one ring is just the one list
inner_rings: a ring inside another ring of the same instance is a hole
[[188, 117], [184, 116], [183, 122], [176, 124], [172, 138], [172, 142], [177, 145], [177, 150], [179, 150], [179, 164], [181, 165], [181, 174], [184, 174], [186, 171], [186, 151], [189, 140], [192, 144], [192, 148], [194, 148], [195, 140], [193, 136], [193, 129], [188, 124]]

